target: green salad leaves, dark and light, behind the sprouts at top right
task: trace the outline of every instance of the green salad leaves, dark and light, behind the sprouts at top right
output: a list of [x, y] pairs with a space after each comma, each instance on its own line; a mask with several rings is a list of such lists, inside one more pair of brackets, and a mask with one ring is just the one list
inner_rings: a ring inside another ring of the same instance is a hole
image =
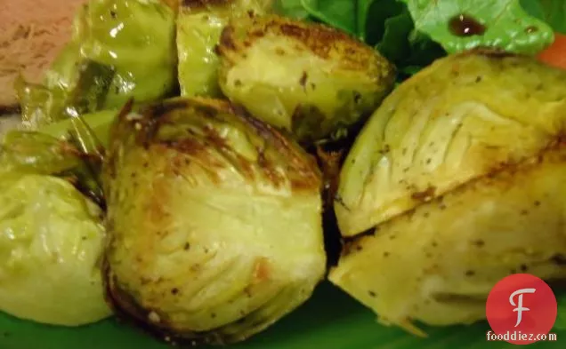
[[[447, 53], [490, 46], [536, 54], [552, 44], [553, 29], [566, 33], [562, 0], [279, 0], [276, 10], [375, 46], [401, 80]], [[468, 20], [477, 22], [476, 33]]]

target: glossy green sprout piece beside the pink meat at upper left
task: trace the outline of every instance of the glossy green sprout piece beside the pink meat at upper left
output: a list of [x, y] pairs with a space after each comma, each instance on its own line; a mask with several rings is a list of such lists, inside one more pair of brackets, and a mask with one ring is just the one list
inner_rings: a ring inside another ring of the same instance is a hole
[[174, 91], [174, 12], [158, 0], [90, 0], [41, 83], [16, 90], [32, 129]]

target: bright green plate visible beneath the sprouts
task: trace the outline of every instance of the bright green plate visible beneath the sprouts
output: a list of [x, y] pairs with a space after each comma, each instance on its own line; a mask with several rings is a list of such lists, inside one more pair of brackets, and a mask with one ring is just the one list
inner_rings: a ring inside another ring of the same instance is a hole
[[[376, 323], [376, 316], [342, 291], [324, 283], [311, 300], [271, 329], [227, 349], [437, 349], [512, 348], [487, 342], [489, 326], [426, 329], [430, 337], [412, 337], [400, 329]], [[566, 331], [557, 342], [539, 342], [535, 348], [563, 348]], [[66, 329], [20, 321], [0, 313], [1, 349], [167, 349], [152, 337], [113, 319]]]

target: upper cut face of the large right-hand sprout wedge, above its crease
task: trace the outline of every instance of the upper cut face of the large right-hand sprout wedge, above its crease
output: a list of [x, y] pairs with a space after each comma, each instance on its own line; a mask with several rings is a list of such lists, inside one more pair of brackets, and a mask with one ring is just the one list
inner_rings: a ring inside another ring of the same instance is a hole
[[499, 52], [439, 59], [392, 92], [344, 162], [335, 204], [353, 236], [553, 144], [566, 71]]

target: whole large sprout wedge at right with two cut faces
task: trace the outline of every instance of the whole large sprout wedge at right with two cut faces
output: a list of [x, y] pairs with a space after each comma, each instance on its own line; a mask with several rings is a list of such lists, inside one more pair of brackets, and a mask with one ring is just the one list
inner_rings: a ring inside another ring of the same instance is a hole
[[563, 280], [564, 91], [566, 71], [486, 51], [402, 83], [345, 160], [329, 280], [420, 334], [484, 319], [508, 274]]

